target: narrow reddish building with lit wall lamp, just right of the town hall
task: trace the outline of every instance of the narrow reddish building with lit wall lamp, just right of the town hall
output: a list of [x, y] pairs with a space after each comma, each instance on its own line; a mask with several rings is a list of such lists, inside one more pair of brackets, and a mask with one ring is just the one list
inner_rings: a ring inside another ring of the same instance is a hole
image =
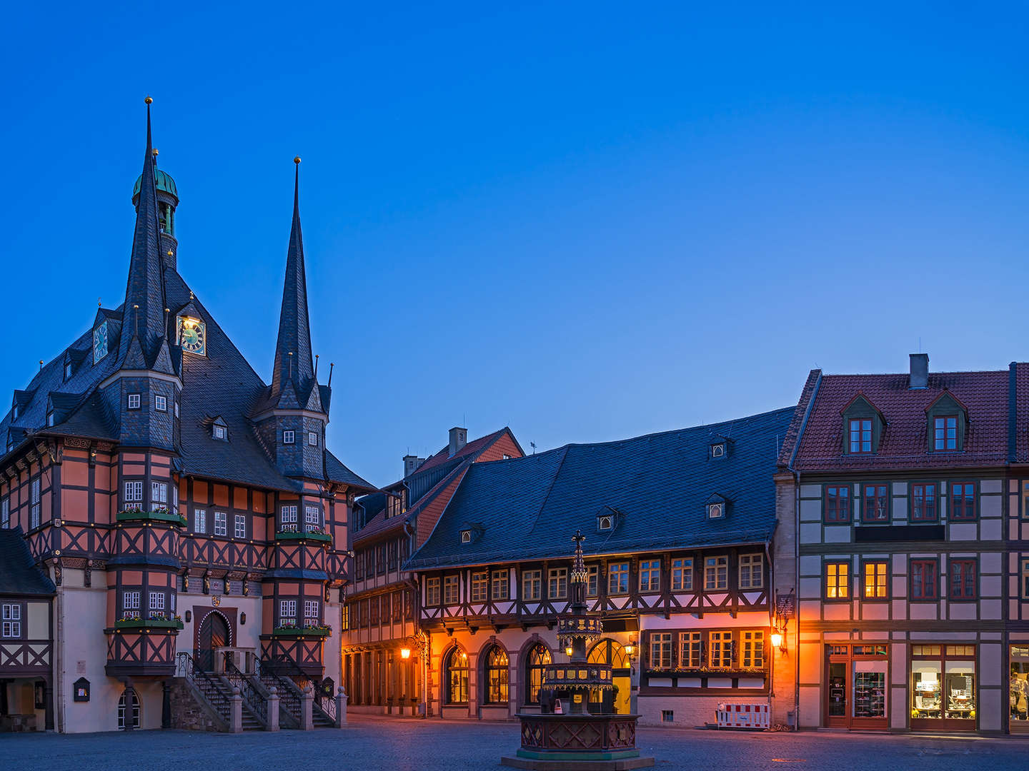
[[425, 709], [419, 595], [403, 563], [431, 535], [471, 464], [524, 454], [507, 428], [471, 441], [467, 436], [466, 429], [455, 427], [438, 452], [404, 456], [403, 478], [355, 506], [343, 642], [354, 711], [400, 715]]

